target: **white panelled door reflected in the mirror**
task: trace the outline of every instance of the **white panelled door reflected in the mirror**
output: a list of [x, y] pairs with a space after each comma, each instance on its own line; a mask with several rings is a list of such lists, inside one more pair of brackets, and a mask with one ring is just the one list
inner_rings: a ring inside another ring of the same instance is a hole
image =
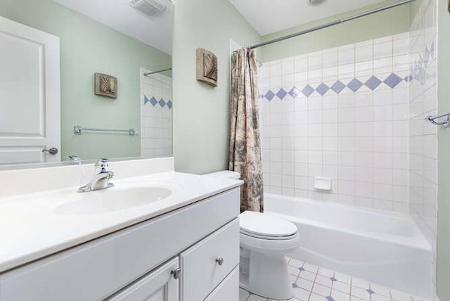
[[0, 166], [59, 162], [59, 38], [0, 17]]

